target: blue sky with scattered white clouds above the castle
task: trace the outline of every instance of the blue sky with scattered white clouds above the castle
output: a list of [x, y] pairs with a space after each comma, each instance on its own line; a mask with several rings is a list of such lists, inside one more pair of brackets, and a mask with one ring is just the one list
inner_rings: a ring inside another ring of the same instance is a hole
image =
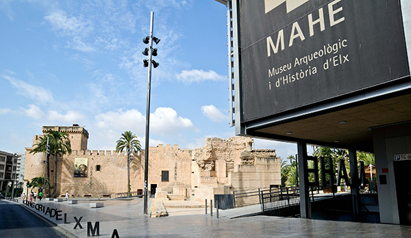
[[[132, 131], [145, 145], [154, 12], [150, 146], [200, 148], [229, 127], [227, 8], [214, 0], [0, 0], [0, 150], [32, 147], [42, 126], [79, 124], [89, 150], [114, 150]], [[297, 145], [254, 140], [277, 156]]]

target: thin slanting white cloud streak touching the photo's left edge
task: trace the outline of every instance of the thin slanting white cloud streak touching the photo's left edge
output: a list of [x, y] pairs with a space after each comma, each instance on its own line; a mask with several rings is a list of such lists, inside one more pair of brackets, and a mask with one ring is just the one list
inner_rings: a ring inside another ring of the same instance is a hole
[[18, 94], [21, 94], [26, 98], [31, 98], [40, 103], [48, 103], [53, 101], [53, 96], [49, 90], [25, 83], [19, 79], [14, 79], [8, 75], [2, 75], [1, 77], [7, 79], [14, 88], [17, 88]]

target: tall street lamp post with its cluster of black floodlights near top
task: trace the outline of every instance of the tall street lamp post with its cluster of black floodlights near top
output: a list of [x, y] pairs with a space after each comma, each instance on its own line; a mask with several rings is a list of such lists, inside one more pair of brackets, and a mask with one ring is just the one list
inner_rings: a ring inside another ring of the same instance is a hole
[[158, 63], [154, 60], [151, 60], [152, 56], [157, 55], [157, 49], [153, 49], [153, 41], [155, 44], [160, 42], [160, 39], [153, 37], [153, 20], [154, 12], [151, 12], [151, 21], [150, 21], [150, 36], [142, 39], [142, 42], [149, 44], [149, 48], [146, 48], [145, 51], [142, 51], [143, 55], [148, 55], [149, 59], [144, 59], [142, 62], [145, 67], [149, 68], [149, 77], [147, 85], [147, 114], [146, 114], [146, 136], [145, 136], [145, 170], [144, 170], [144, 214], [147, 212], [147, 202], [148, 202], [148, 192], [147, 187], [149, 185], [149, 128], [150, 128], [150, 92], [151, 92], [151, 64], [154, 68], [158, 67]]

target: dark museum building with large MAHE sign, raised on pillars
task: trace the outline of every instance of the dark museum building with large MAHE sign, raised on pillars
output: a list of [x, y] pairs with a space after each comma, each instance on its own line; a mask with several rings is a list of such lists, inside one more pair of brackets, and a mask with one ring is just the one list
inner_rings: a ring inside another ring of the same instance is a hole
[[363, 151], [375, 154], [379, 221], [411, 224], [411, 1], [216, 1], [227, 6], [230, 124], [297, 143], [301, 217], [319, 185], [311, 144], [349, 150], [354, 220]]

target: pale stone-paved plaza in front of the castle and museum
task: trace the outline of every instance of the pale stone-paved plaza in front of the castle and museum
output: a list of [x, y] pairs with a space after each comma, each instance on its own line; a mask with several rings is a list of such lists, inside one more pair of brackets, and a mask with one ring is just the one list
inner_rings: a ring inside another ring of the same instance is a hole
[[[119, 237], [411, 237], [411, 226], [389, 224], [364, 224], [355, 222], [334, 222], [299, 218], [240, 217], [227, 219], [208, 213], [176, 215], [150, 218], [142, 214], [142, 198], [130, 200], [78, 200], [79, 204], [64, 202], [37, 201], [38, 204], [62, 211], [63, 220], [45, 216], [41, 211], [23, 205], [51, 222], [58, 224], [71, 237], [87, 237], [87, 222], [100, 222], [100, 237], [112, 237], [113, 230]], [[92, 209], [90, 202], [103, 202], [104, 207]], [[200, 208], [197, 208], [200, 209]], [[235, 209], [233, 209], [235, 210]], [[210, 212], [210, 210], [209, 210]], [[228, 214], [230, 211], [220, 211]], [[237, 212], [237, 211], [232, 211]], [[64, 213], [71, 224], [64, 224]], [[188, 213], [189, 214], [189, 213]], [[73, 229], [73, 217], [83, 217], [83, 229]]]

